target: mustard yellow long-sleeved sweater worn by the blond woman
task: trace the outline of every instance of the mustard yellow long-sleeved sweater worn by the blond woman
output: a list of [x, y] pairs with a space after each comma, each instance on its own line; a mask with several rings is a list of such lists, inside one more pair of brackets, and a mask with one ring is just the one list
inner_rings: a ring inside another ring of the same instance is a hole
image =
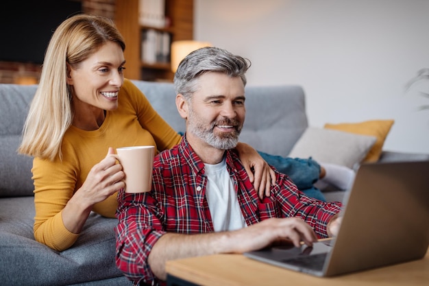
[[[34, 158], [34, 237], [56, 250], [75, 243], [78, 234], [67, 230], [62, 209], [79, 189], [90, 169], [108, 153], [108, 147], [154, 145], [158, 151], [180, 142], [181, 136], [151, 107], [143, 93], [125, 80], [119, 92], [117, 110], [107, 111], [98, 130], [84, 131], [72, 126], [62, 140], [62, 160]], [[166, 103], [166, 104], [174, 104]], [[114, 217], [117, 194], [95, 204], [93, 211]]]

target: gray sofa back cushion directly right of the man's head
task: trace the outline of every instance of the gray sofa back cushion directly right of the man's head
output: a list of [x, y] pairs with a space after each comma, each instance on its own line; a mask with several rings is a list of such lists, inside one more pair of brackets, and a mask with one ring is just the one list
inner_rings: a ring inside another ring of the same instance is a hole
[[246, 86], [246, 119], [240, 141], [286, 156], [308, 126], [301, 86]]

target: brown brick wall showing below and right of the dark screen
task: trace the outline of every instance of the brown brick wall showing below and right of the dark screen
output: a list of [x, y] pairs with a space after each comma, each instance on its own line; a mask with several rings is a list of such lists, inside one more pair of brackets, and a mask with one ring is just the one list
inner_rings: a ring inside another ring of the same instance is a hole
[[[82, 10], [86, 14], [114, 19], [114, 4], [115, 0], [82, 0]], [[0, 83], [35, 84], [39, 80], [40, 71], [39, 64], [0, 61]]]

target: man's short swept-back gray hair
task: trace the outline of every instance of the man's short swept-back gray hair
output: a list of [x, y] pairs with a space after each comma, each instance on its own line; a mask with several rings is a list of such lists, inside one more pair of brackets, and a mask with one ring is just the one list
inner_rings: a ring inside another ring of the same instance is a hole
[[197, 91], [197, 78], [204, 73], [218, 71], [230, 77], [240, 77], [243, 84], [247, 80], [245, 73], [252, 63], [247, 58], [236, 56], [218, 47], [203, 47], [186, 56], [174, 75], [175, 93], [181, 93], [189, 99]]

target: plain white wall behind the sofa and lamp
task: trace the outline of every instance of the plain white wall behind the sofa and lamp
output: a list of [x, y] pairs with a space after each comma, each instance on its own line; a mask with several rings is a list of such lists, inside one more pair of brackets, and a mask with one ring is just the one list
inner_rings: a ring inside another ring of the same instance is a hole
[[195, 0], [195, 38], [249, 58], [249, 85], [302, 85], [310, 126], [394, 119], [384, 150], [429, 153], [429, 81], [404, 88], [429, 68], [428, 0]]

